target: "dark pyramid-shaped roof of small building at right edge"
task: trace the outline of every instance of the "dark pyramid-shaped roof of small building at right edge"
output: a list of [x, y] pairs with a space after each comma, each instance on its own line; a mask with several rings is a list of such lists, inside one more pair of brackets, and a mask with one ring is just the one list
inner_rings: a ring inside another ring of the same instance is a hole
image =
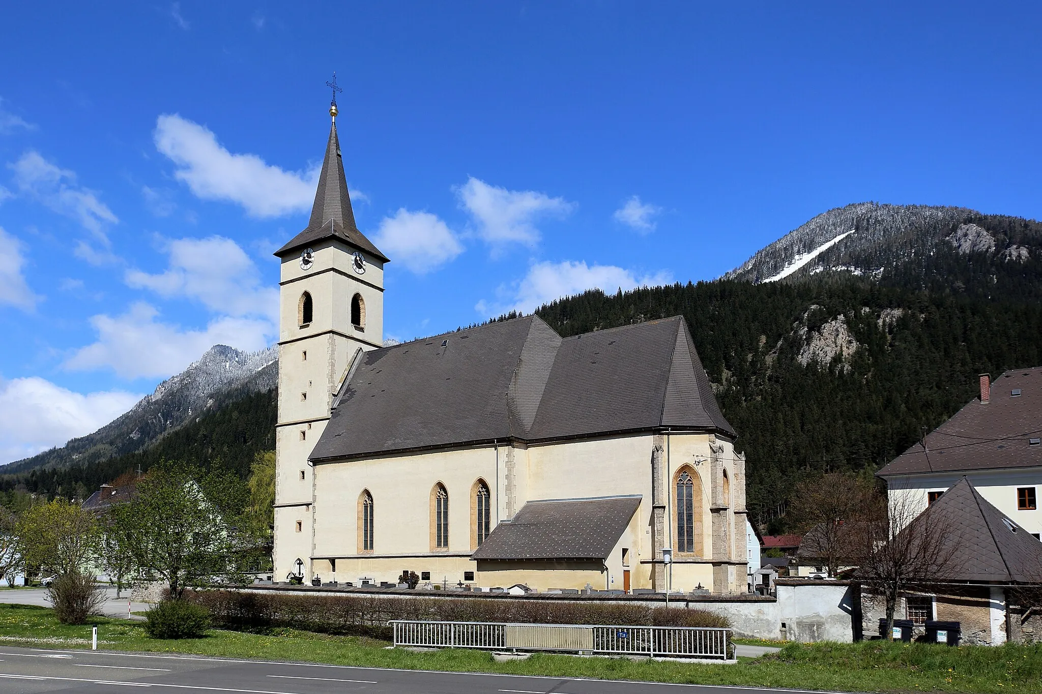
[[954, 571], [946, 581], [1042, 583], [1042, 542], [985, 500], [966, 478], [923, 516], [952, 543]]

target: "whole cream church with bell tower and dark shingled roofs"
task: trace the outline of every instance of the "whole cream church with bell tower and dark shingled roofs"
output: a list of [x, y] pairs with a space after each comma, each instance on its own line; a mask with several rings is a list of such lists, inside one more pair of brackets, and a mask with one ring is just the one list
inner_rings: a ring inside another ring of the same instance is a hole
[[680, 316], [382, 346], [333, 124], [281, 260], [276, 579], [744, 592], [745, 458]]

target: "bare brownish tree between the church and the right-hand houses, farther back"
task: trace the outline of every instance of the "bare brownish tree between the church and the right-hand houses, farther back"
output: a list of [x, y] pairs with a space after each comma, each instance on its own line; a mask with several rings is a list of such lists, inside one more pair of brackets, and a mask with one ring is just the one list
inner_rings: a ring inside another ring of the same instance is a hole
[[833, 472], [800, 483], [787, 512], [803, 534], [799, 555], [818, 559], [836, 577], [840, 564], [852, 560], [847, 537], [851, 528], [868, 519], [877, 496], [871, 482], [849, 473]]

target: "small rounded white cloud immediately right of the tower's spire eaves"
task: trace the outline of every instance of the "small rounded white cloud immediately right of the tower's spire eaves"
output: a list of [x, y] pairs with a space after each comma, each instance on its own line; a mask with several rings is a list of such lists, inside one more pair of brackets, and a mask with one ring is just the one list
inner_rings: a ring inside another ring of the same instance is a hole
[[435, 269], [463, 253], [452, 230], [430, 212], [410, 212], [401, 208], [386, 216], [373, 238], [395, 262], [418, 275]]

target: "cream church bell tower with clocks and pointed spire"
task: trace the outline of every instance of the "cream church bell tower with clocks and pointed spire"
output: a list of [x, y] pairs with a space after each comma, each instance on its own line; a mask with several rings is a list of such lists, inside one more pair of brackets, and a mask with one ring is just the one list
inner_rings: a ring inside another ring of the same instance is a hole
[[[334, 78], [336, 79], [336, 78]], [[381, 346], [383, 264], [358, 231], [337, 137], [336, 84], [322, 173], [307, 228], [275, 252], [279, 281], [275, 428], [275, 581], [312, 576], [315, 490], [307, 458], [359, 351]]]

